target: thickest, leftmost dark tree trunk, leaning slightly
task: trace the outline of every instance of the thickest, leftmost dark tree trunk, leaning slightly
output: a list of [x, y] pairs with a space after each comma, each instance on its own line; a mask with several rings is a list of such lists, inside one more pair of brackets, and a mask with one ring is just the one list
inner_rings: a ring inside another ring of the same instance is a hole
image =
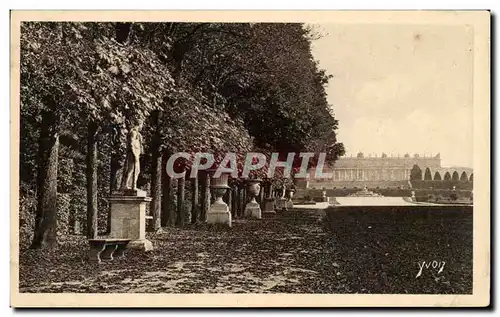
[[57, 117], [52, 112], [42, 113], [38, 140], [37, 210], [32, 249], [57, 245], [57, 168], [59, 134]]

